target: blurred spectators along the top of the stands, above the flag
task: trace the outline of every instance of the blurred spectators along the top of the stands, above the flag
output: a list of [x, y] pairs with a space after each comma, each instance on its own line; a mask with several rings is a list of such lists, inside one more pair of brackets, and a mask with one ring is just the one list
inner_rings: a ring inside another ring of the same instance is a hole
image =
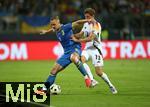
[[92, 7], [98, 14], [150, 14], [150, 0], [0, 0], [0, 16], [62, 15], [81, 17], [82, 10]]

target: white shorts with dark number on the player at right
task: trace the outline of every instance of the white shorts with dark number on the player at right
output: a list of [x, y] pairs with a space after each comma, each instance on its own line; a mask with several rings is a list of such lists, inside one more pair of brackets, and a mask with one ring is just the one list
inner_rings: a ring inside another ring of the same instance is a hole
[[86, 61], [92, 59], [93, 65], [96, 66], [104, 66], [103, 57], [100, 55], [97, 49], [86, 49], [82, 51], [82, 56], [86, 58]]

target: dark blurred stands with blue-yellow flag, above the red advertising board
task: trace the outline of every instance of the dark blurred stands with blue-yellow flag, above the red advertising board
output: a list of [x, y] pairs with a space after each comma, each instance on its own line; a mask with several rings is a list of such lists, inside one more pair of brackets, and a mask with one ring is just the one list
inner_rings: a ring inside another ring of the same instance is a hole
[[36, 33], [36, 27], [46, 27], [53, 15], [60, 16], [62, 23], [83, 18], [86, 7], [96, 10], [103, 39], [150, 37], [149, 0], [0, 0], [0, 33]]

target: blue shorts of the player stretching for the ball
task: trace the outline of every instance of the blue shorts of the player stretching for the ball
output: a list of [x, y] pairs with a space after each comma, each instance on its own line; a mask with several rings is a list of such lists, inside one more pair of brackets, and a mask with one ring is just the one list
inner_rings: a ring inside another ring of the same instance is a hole
[[78, 53], [79, 56], [81, 56], [81, 49], [75, 48], [67, 53], [64, 53], [56, 62], [63, 68], [67, 67], [70, 63], [72, 63], [72, 61], [70, 60], [70, 56], [74, 52]]

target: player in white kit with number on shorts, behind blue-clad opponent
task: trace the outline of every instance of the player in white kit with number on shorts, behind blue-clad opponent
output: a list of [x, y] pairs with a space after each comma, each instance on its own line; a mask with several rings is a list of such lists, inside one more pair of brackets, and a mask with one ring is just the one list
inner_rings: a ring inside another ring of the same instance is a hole
[[[92, 63], [95, 67], [95, 72], [100, 76], [109, 86], [113, 94], [117, 93], [116, 88], [111, 83], [107, 74], [103, 72], [103, 56], [102, 56], [102, 43], [100, 39], [101, 25], [95, 20], [95, 10], [92, 8], [87, 8], [84, 11], [84, 16], [86, 19], [91, 19], [91, 22], [84, 23], [84, 26], [80, 33], [74, 34], [72, 39], [75, 42], [86, 42], [85, 49], [82, 51], [81, 60], [84, 63], [84, 68], [86, 69], [90, 79], [92, 80], [92, 85], [96, 85], [97, 81], [93, 79], [93, 75], [89, 66], [85, 63], [89, 59], [92, 59]], [[81, 38], [84, 36], [83, 38]]]

